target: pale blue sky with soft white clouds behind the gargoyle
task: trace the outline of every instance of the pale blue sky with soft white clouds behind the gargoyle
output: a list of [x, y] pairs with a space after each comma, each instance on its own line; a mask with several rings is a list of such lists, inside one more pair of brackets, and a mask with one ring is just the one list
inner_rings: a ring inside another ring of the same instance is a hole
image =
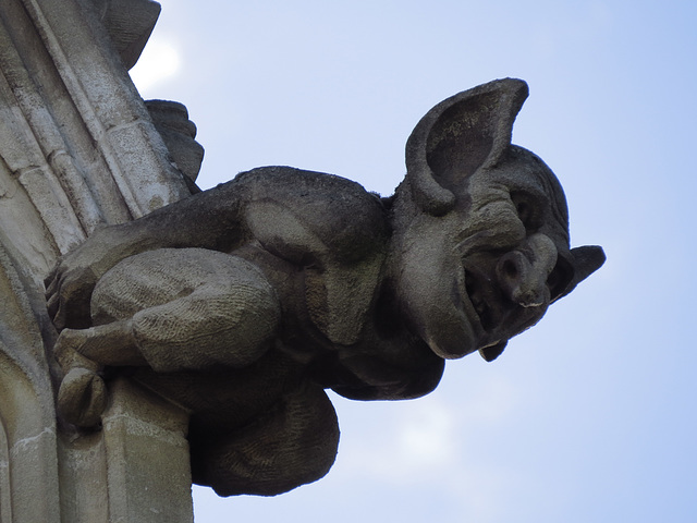
[[572, 243], [608, 263], [487, 364], [421, 400], [334, 398], [320, 482], [195, 489], [197, 523], [693, 522], [697, 518], [697, 3], [162, 0], [132, 72], [184, 102], [204, 187], [265, 165], [391, 194], [441, 99], [528, 82], [514, 127], [558, 174]]

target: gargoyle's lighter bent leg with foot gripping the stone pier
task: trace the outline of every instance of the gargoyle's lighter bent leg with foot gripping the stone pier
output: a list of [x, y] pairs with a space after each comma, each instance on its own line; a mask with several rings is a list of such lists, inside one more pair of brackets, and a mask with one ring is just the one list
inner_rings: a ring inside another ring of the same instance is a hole
[[156, 373], [252, 365], [272, 346], [281, 307], [249, 262], [200, 248], [149, 251], [117, 264], [96, 284], [94, 327], [64, 329], [59, 411], [81, 427], [106, 406], [105, 366]]

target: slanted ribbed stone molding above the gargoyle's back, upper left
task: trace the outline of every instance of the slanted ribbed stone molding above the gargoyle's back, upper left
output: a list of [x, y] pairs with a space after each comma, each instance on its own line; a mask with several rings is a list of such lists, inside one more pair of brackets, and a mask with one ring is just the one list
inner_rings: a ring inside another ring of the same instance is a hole
[[96, 227], [188, 194], [99, 15], [87, 0], [0, 4], [0, 217], [21, 223], [9, 240], [35, 275]]

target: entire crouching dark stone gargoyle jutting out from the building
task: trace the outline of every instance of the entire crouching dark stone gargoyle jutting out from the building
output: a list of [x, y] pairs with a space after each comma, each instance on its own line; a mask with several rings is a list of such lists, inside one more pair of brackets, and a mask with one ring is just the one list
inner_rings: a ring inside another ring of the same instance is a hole
[[570, 248], [561, 185], [511, 145], [526, 97], [506, 78], [436, 106], [389, 198], [269, 167], [98, 230], [47, 278], [62, 416], [97, 425], [102, 370], [126, 366], [191, 411], [195, 483], [274, 495], [334, 461], [323, 389], [416, 398], [444, 358], [494, 360], [604, 260]]

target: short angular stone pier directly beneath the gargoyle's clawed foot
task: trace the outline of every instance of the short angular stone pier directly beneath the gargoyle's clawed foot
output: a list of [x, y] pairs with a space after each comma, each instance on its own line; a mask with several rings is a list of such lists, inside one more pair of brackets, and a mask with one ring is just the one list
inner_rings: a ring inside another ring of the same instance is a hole
[[61, 431], [63, 521], [193, 522], [188, 414], [123, 378], [109, 392], [101, 429]]

